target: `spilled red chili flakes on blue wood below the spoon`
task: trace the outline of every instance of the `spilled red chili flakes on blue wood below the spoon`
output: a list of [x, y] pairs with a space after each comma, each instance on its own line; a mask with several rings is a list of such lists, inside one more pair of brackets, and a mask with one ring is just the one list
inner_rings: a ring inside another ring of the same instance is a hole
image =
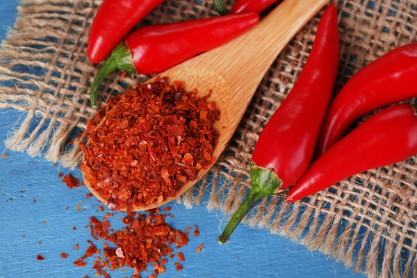
[[[74, 262], [74, 265], [84, 267], [84, 259], [100, 254], [95, 259], [93, 269], [97, 271], [96, 276], [103, 275], [110, 277], [106, 271], [117, 270], [125, 266], [135, 269], [135, 275], [149, 268], [151, 263], [154, 269], [149, 277], [157, 277], [158, 274], [165, 272], [165, 256], [173, 253], [172, 245], [177, 245], [174, 249], [186, 246], [188, 243], [188, 233], [172, 229], [165, 223], [164, 214], [155, 214], [151, 211], [149, 215], [140, 213], [129, 213], [123, 223], [126, 226], [117, 231], [110, 230], [108, 220], [103, 222], [97, 218], [90, 218], [90, 231], [95, 240], [107, 240], [115, 245], [109, 247], [104, 242], [103, 250], [97, 249], [96, 245], [88, 240], [90, 247], [85, 255]], [[101, 252], [102, 251], [102, 252]], [[185, 261], [182, 253], [177, 253], [181, 261]], [[177, 267], [177, 270], [179, 268]], [[133, 276], [139, 277], [139, 276]]]

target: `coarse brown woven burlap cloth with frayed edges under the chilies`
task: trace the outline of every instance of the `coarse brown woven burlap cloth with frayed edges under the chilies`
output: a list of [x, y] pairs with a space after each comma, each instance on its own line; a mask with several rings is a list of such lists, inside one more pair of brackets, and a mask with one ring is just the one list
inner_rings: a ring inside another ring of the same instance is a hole
[[[336, 92], [363, 66], [417, 40], [417, 1], [335, 2], [341, 34]], [[86, 120], [95, 113], [88, 106], [88, 88], [97, 67], [86, 58], [86, 47], [89, 26], [100, 3], [22, 0], [15, 28], [0, 50], [0, 108], [25, 112], [10, 132], [8, 148], [44, 156], [67, 167], [79, 163], [79, 142], [68, 145], [66, 141], [79, 130], [84, 131]], [[167, 0], [141, 24], [213, 15], [211, 0]], [[207, 191], [210, 210], [232, 213], [241, 204], [251, 186], [248, 169], [254, 144], [297, 81], [320, 15], [306, 24], [277, 58], [229, 147], [207, 177], [181, 197], [181, 202], [187, 206], [200, 204]], [[130, 75], [122, 79], [120, 74], [112, 74], [101, 90], [101, 99], [106, 101], [112, 93], [146, 78]], [[263, 199], [246, 222], [298, 240], [310, 250], [343, 260], [370, 277], [417, 277], [416, 171], [414, 157], [358, 174], [304, 202], [286, 204], [282, 193]]]

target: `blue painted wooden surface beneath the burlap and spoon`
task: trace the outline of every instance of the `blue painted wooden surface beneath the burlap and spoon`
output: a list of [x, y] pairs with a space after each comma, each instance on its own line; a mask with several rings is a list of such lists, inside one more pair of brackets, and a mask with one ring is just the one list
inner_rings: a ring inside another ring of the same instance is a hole
[[[17, 1], [1, 1], [0, 40], [13, 26], [16, 6]], [[87, 188], [70, 190], [60, 182], [58, 173], [67, 173], [66, 169], [5, 149], [3, 141], [21, 115], [17, 111], [0, 111], [0, 154], [8, 154], [8, 158], [0, 158], [0, 277], [94, 277], [92, 261], [86, 268], [77, 268], [72, 262], [84, 254], [88, 247], [85, 240], [91, 239], [84, 228], [88, 218], [102, 217], [106, 211], [97, 211], [97, 200], [85, 197]], [[73, 174], [81, 177], [78, 170]], [[208, 195], [205, 202], [207, 199]], [[81, 211], [77, 211], [77, 205]], [[168, 219], [173, 227], [184, 229], [197, 224], [201, 234], [191, 236], [189, 245], [181, 249], [186, 256], [184, 269], [174, 270], [176, 260], [172, 259], [167, 263], [171, 269], [160, 277], [362, 277], [319, 252], [309, 252], [291, 240], [243, 225], [227, 245], [219, 245], [217, 238], [225, 224], [223, 213], [209, 213], [204, 205], [189, 210], [178, 204], [170, 206], [175, 218]], [[121, 227], [117, 218], [111, 218], [115, 228]], [[75, 243], [79, 243], [79, 251], [74, 250]], [[204, 244], [204, 250], [197, 254], [200, 244]], [[69, 258], [61, 259], [61, 252], [70, 254]], [[37, 261], [37, 254], [45, 260]], [[126, 273], [112, 272], [111, 276], [129, 274], [132, 272], [127, 269]]]

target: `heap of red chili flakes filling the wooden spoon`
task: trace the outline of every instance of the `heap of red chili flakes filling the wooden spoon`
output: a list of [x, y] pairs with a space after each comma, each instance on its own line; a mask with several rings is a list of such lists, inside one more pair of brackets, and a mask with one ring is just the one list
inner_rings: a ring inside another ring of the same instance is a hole
[[161, 204], [215, 161], [220, 111], [208, 95], [168, 84], [163, 78], [127, 90], [97, 128], [87, 128], [81, 170], [112, 210]]

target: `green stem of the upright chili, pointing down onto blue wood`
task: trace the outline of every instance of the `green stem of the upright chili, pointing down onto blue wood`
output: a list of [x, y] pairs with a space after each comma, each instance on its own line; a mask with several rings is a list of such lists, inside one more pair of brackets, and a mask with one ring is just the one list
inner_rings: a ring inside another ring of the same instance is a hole
[[273, 170], [259, 167], [253, 162], [250, 167], [250, 177], [252, 178], [252, 188], [249, 193], [247, 193], [245, 202], [239, 206], [238, 210], [234, 213], [224, 229], [222, 236], [219, 238], [220, 244], [225, 243], [229, 239], [234, 229], [236, 229], [245, 215], [260, 199], [265, 196], [273, 195], [282, 185], [281, 179], [279, 179]]

